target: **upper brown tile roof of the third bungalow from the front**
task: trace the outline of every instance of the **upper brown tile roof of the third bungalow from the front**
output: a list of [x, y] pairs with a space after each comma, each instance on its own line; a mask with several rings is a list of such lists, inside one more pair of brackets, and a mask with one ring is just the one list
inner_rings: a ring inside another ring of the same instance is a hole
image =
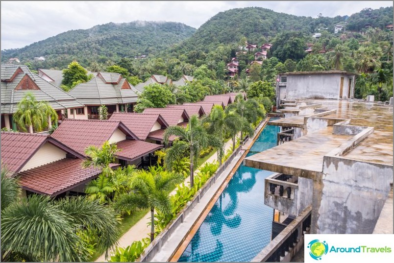
[[156, 121], [162, 126], [169, 126], [160, 114], [114, 112], [109, 120], [122, 121], [142, 141], [147, 139]]

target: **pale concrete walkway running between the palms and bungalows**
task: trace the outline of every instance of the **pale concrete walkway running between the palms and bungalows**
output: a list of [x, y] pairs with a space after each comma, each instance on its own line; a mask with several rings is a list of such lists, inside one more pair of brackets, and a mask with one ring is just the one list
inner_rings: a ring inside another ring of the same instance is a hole
[[[227, 149], [233, 146], [233, 141], [230, 139], [224, 144], [224, 153]], [[218, 159], [218, 153], [215, 152], [211, 157], [209, 157], [202, 165], [205, 163], [212, 163]], [[202, 166], [201, 165], [201, 166]], [[197, 174], [198, 168], [195, 170], [195, 174]], [[190, 183], [190, 176], [185, 179], [185, 185]], [[170, 195], [175, 194], [176, 190], [173, 190]], [[134, 241], [140, 241], [141, 239], [150, 237], [150, 211], [144, 217], [139, 220], [135, 225], [133, 225], [126, 233], [123, 234], [122, 238], [118, 240], [118, 247], [127, 247], [131, 245]], [[111, 255], [111, 252], [109, 253]], [[95, 262], [107, 262], [105, 260], [104, 254], [101, 255]]]

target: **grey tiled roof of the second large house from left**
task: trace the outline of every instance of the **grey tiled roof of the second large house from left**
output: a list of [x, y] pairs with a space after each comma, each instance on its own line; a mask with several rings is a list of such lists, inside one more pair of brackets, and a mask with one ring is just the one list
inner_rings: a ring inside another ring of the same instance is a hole
[[138, 98], [133, 89], [134, 87], [122, 78], [121, 74], [99, 72], [88, 82], [76, 85], [69, 94], [85, 105], [132, 103]]

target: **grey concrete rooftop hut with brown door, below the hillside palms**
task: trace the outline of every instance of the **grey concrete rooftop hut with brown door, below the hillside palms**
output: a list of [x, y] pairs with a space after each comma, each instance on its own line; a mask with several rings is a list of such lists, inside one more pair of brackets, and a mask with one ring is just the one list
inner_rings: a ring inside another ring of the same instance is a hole
[[[288, 75], [286, 84], [286, 99], [300, 99], [300, 98], [340, 98], [340, 82], [341, 77], [344, 77], [343, 97], [347, 98], [349, 79], [352, 75], [345, 74], [311, 74], [311, 75]], [[352, 80], [352, 86], [354, 81]], [[354, 93], [351, 89], [350, 97]], [[280, 95], [279, 95], [280, 96]]]

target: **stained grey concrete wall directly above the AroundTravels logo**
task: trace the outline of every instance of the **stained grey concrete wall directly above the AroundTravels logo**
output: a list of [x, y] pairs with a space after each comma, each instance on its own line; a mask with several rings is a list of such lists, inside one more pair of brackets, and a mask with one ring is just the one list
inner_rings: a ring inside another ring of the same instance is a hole
[[393, 166], [325, 156], [314, 183], [312, 233], [371, 234], [393, 182]]

